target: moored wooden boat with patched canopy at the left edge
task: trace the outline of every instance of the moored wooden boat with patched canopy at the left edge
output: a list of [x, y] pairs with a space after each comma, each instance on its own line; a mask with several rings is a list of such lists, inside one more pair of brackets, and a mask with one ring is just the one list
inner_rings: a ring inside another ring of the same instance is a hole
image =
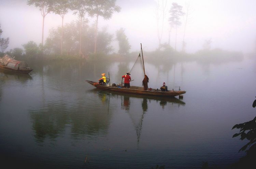
[[28, 74], [33, 69], [28, 67], [25, 61], [18, 61], [10, 57], [9, 55], [5, 55], [4, 57], [0, 57], [0, 69], [10, 72], [16, 73], [26, 73]]

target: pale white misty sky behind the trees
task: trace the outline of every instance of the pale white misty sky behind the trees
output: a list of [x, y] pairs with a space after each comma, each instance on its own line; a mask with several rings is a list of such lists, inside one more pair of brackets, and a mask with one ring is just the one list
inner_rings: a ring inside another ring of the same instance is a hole
[[[10, 37], [9, 48], [22, 48], [28, 41], [41, 43], [42, 16], [39, 8], [28, 6], [27, 0], [1, 0], [0, 24], [2, 37]], [[160, 1], [159, 1], [160, 2]], [[222, 48], [242, 52], [252, 52], [256, 48], [256, 1], [255, 0], [167, 0], [166, 16], [163, 24], [163, 37], [161, 42], [168, 42], [170, 25], [168, 18], [171, 3], [177, 2], [183, 6], [189, 3], [189, 19], [185, 33], [187, 52], [196, 52], [202, 49], [206, 39], [212, 40], [211, 48]], [[132, 51], [140, 50], [140, 43], [145, 51], [153, 51], [158, 47], [156, 6], [157, 0], [117, 0], [122, 7], [120, 13], [115, 13], [110, 20], [99, 19], [99, 29], [108, 26], [108, 32], [114, 34], [120, 27], [125, 28]], [[86, 16], [90, 23], [95, 18]], [[76, 20], [72, 12], [64, 18], [64, 24]], [[184, 34], [183, 24], [177, 30], [178, 51], [182, 47]], [[160, 22], [161, 24], [161, 22]], [[45, 18], [44, 39], [51, 28], [61, 25], [61, 17], [48, 14]], [[159, 26], [160, 28], [160, 26]], [[45, 42], [45, 41], [44, 41]], [[118, 43], [112, 45], [118, 51]], [[171, 45], [175, 45], [175, 29], [171, 30]]]

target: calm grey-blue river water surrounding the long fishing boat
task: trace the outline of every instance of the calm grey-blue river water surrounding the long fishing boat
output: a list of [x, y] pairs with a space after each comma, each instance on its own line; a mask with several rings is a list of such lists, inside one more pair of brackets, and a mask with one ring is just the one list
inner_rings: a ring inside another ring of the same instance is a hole
[[[167, 70], [145, 63], [149, 87], [181, 86], [183, 99], [102, 92], [85, 80], [133, 63], [31, 65], [30, 75], [0, 72], [2, 165], [27, 168], [220, 168], [238, 161], [247, 142], [235, 124], [252, 120], [255, 60], [183, 62]], [[134, 73], [131, 74], [134, 77]], [[142, 80], [142, 79], [141, 79]], [[134, 80], [134, 84], [141, 84]]]

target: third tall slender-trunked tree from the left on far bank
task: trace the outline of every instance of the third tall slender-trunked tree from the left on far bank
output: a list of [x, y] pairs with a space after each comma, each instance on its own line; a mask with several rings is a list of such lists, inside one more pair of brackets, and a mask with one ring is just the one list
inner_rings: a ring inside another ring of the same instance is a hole
[[71, 0], [71, 10], [75, 11], [74, 15], [78, 14], [78, 17], [80, 17], [79, 55], [82, 57], [82, 21], [85, 17], [85, 14], [88, 12], [90, 5], [90, 0]]

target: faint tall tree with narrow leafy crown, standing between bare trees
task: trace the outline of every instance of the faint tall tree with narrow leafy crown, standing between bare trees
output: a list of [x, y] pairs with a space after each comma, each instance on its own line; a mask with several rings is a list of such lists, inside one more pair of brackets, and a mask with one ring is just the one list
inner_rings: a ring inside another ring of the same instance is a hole
[[180, 17], [185, 15], [184, 12], [182, 12], [182, 6], [178, 5], [176, 2], [172, 3], [172, 7], [169, 11], [171, 14], [171, 17], [169, 18], [170, 24], [175, 25], [175, 50], [176, 50], [176, 42], [177, 42], [177, 26], [181, 25]]

